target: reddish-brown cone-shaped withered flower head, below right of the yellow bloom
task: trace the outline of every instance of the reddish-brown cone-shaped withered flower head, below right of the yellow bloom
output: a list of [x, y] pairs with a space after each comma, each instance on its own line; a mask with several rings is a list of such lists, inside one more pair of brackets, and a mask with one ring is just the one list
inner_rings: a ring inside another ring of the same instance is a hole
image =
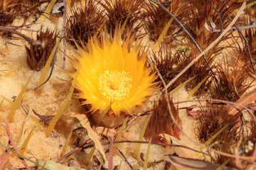
[[153, 113], [144, 134], [144, 137], [146, 137], [146, 139], [152, 137], [152, 141], [154, 142], [164, 142], [162, 141], [161, 137], [158, 136], [160, 133], [166, 133], [179, 139], [180, 130], [178, 130], [178, 127], [171, 119], [171, 115], [168, 110], [167, 100], [169, 100], [171, 106], [171, 113], [174, 115], [177, 123], [181, 125], [181, 118], [179, 118], [178, 115], [178, 108], [174, 106], [172, 98], [166, 98], [166, 96], [163, 94], [159, 101], [156, 101], [154, 103], [154, 108], [152, 111]]

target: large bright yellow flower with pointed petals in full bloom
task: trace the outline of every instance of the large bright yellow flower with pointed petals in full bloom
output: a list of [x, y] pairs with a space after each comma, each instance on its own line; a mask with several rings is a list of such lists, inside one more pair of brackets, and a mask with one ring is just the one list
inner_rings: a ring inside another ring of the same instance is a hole
[[78, 47], [75, 87], [92, 111], [103, 111], [112, 103], [110, 114], [132, 114], [157, 89], [156, 74], [146, 67], [146, 50], [140, 52], [138, 41], [132, 47], [134, 36], [122, 40], [121, 32], [117, 28], [114, 38], [102, 33], [100, 40], [90, 38], [87, 47]]

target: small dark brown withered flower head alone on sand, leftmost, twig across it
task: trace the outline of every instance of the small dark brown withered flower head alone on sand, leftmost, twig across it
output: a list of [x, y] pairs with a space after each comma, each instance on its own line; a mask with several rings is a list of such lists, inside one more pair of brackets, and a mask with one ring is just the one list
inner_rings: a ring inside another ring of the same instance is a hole
[[40, 71], [45, 65], [55, 46], [57, 33], [55, 30], [51, 31], [48, 28], [36, 35], [36, 40], [43, 44], [43, 47], [37, 47], [33, 45], [26, 46], [27, 63], [28, 67], [32, 70]]

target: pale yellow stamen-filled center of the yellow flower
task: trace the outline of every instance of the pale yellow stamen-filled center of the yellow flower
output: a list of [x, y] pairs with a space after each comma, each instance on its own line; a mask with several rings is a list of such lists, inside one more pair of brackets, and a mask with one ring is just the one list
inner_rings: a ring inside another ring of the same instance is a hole
[[132, 77], [129, 72], [106, 70], [104, 74], [100, 74], [99, 80], [99, 89], [108, 100], [122, 101], [126, 96], [129, 96], [132, 88]]

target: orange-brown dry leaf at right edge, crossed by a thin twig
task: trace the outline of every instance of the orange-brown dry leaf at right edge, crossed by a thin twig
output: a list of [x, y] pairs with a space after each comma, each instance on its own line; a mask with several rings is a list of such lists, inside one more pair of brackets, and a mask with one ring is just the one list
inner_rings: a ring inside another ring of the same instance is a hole
[[[250, 91], [249, 93], [245, 94], [244, 96], [242, 96], [241, 98], [239, 98], [239, 100], [236, 102], [242, 106], [247, 106], [247, 104], [250, 104], [252, 101], [256, 100], [256, 88], [253, 89], [252, 91]], [[239, 110], [242, 109], [242, 107], [237, 107]], [[238, 109], [236, 108], [230, 108], [228, 113], [230, 115], [235, 115], [236, 113], [238, 113]]]

